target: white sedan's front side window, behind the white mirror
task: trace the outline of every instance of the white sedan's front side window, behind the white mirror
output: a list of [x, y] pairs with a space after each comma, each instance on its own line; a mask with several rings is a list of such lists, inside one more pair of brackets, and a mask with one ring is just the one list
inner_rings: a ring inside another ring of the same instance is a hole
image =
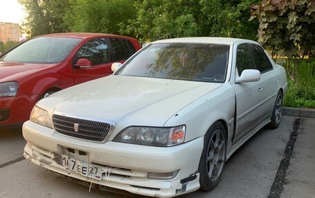
[[242, 74], [243, 70], [254, 69], [254, 62], [253, 59], [251, 59], [251, 52], [249, 52], [249, 45], [247, 43], [238, 45], [236, 68], [238, 69], [239, 76]]

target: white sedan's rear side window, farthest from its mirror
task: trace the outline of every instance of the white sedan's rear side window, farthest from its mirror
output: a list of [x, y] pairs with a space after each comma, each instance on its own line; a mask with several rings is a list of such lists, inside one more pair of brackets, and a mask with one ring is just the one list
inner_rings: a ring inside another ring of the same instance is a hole
[[256, 67], [260, 71], [260, 73], [267, 72], [268, 70], [272, 70], [272, 64], [270, 63], [262, 47], [256, 44], [251, 44], [251, 50], [253, 52], [253, 57], [256, 63]]

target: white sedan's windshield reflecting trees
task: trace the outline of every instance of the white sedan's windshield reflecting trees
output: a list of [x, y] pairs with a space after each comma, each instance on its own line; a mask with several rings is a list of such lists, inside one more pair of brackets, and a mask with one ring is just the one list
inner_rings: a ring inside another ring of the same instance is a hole
[[229, 46], [209, 43], [151, 44], [117, 75], [222, 83]]

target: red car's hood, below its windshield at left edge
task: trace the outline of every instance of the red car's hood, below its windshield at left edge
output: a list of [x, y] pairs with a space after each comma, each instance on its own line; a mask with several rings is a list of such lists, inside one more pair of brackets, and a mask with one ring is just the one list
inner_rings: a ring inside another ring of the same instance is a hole
[[9, 63], [0, 61], [0, 82], [19, 81], [21, 77], [55, 65], [57, 65], [57, 63]]

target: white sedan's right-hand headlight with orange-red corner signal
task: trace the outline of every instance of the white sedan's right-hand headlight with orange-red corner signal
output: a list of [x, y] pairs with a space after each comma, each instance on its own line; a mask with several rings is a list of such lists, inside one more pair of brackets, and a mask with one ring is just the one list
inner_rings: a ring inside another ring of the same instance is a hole
[[146, 146], [174, 146], [184, 142], [186, 127], [131, 126], [116, 135], [113, 141]]

